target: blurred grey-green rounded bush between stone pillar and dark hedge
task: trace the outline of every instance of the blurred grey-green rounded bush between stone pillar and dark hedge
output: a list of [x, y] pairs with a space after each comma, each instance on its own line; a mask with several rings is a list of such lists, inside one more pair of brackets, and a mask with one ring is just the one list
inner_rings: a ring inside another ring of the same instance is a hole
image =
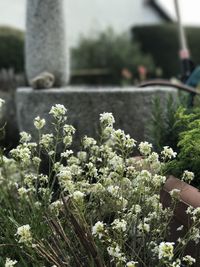
[[117, 35], [111, 29], [93, 38], [80, 39], [79, 45], [72, 49], [73, 69], [106, 69], [109, 79], [105, 82], [109, 84], [121, 84], [124, 69], [134, 79], [138, 78], [140, 65], [148, 73], [154, 71], [152, 58], [141, 53], [138, 43], [132, 43], [128, 34]]

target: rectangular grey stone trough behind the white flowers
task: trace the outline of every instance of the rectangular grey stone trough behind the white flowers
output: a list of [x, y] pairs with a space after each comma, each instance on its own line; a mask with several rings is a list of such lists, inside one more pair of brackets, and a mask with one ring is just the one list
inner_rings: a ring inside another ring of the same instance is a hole
[[145, 138], [145, 128], [151, 119], [152, 99], [160, 98], [165, 106], [169, 94], [177, 97], [172, 88], [89, 88], [67, 87], [34, 91], [20, 88], [16, 93], [19, 129], [33, 135], [33, 119], [40, 115], [49, 121], [49, 110], [54, 104], [68, 109], [68, 122], [77, 129], [75, 145], [84, 135], [97, 136], [99, 114], [112, 112], [116, 123], [138, 141]]

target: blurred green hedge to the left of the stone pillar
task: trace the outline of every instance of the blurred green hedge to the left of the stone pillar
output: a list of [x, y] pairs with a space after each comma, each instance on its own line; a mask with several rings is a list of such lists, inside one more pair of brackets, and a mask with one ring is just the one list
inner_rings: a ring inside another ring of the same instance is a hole
[[24, 33], [10, 27], [0, 27], [0, 69], [24, 71]]

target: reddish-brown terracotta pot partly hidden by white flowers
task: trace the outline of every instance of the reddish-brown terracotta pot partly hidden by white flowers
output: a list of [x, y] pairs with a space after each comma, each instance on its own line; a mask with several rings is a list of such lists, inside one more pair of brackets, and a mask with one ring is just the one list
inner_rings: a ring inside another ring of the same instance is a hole
[[[171, 196], [169, 192], [172, 189], [181, 190], [180, 203], [175, 209], [174, 218], [170, 225], [171, 235], [168, 237], [168, 241], [176, 242], [176, 240], [183, 236], [191, 226], [191, 218], [186, 214], [187, 208], [189, 206], [193, 206], [194, 208], [200, 207], [200, 191], [173, 176], [169, 176], [160, 194], [161, 203], [164, 207], [169, 207], [171, 205]], [[184, 225], [185, 231], [177, 231], [177, 228], [181, 225]], [[200, 266], [200, 243], [195, 244], [194, 242], [190, 242], [186, 247], [186, 254], [196, 258], [197, 262], [194, 266]]]

